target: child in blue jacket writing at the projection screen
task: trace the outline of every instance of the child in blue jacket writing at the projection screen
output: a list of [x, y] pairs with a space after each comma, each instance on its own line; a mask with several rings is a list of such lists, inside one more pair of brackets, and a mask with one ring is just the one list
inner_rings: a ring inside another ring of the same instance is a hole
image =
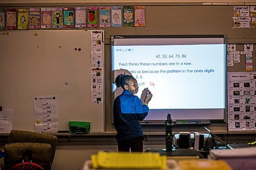
[[148, 113], [148, 102], [152, 93], [148, 92], [144, 103], [136, 96], [137, 80], [130, 75], [120, 74], [116, 77], [115, 85], [122, 87], [123, 92], [114, 101], [113, 117], [117, 131], [116, 139], [119, 152], [143, 152], [143, 132], [139, 121]]

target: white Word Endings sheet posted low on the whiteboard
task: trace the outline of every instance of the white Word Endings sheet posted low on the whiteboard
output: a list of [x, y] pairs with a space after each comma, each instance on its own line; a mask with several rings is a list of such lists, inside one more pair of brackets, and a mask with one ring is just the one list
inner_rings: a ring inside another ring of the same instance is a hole
[[58, 131], [58, 102], [56, 95], [36, 96], [34, 99], [35, 132]]

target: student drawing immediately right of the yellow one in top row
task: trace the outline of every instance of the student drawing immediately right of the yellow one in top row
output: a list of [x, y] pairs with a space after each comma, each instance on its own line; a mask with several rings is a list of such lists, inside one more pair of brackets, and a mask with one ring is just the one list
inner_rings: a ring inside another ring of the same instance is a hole
[[40, 8], [29, 9], [29, 28], [38, 29], [40, 28]]

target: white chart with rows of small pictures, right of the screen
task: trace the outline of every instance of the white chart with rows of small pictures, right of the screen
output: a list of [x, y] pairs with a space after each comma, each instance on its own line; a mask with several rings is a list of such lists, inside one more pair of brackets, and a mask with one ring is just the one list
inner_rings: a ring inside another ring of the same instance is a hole
[[228, 130], [256, 129], [256, 72], [228, 72]]

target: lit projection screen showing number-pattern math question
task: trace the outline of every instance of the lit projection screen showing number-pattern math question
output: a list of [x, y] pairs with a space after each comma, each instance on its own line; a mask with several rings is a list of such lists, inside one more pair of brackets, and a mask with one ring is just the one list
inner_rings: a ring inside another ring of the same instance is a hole
[[[224, 35], [113, 36], [113, 82], [120, 73], [133, 75], [136, 94], [153, 94], [145, 120], [223, 120], [226, 95]], [[122, 89], [113, 84], [114, 98]], [[142, 96], [142, 97], [141, 97]], [[113, 98], [113, 99], [114, 99]]]

